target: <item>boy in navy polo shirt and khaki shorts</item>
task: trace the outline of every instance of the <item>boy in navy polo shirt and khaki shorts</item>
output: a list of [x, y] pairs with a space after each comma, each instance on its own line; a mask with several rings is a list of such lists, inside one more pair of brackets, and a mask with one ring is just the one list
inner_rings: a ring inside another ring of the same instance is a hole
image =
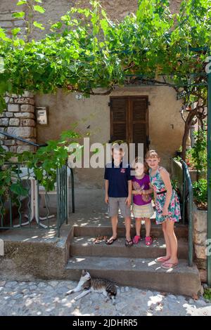
[[133, 241], [130, 236], [130, 204], [132, 202], [132, 177], [130, 175], [130, 166], [122, 164], [124, 152], [122, 148], [115, 143], [112, 147], [113, 161], [106, 164], [104, 179], [106, 187], [105, 202], [108, 204], [108, 216], [111, 217], [113, 235], [106, 241], [107, 245], [113, 244], [117, 239], [117, 218], [118, 209], [124, 216], [126, 227], [125, 246], [132, 246]]

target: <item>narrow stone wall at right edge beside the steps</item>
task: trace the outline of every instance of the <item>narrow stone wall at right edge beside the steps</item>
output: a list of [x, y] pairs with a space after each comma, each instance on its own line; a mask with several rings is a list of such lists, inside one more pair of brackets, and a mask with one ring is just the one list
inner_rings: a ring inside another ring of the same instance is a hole
[[207, 282], [207, 211], [193, 208], [193, 244], [201, 282]]

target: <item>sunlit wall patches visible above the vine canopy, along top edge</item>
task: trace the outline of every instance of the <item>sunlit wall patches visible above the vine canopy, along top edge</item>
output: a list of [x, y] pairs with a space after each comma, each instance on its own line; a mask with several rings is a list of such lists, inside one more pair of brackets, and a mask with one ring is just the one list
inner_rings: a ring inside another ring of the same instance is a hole
[[[11, 34], [11, 29], [13, 27], [25, 27], [23, 20], [15, 20], [12, 18], [12, 13], [15, 11], [25, 11], [25, 18], [28, 18], [27, 6], [16, 6], [18, 0], [1, 0], [0, 1], [0, 27], [6, 29], [8, 34]], [[177, 13], [179, 11], [179, 5], [181, 0], [170, 0], [170, 10], [172, 13]], [[122, 20], [124, 16], [129, 13], [136, 13], [138, 8], [138, 0], [101, 0], [103, 8], [106, 8], [108, 17], [111, 20]], [[44, 14], [35, 12], [34, 20], [41, 22], [45, 30], [34, 29], [32, 32], [32, 37], [34, 39], [44, 36], [44, 34], [49, 32], [49, 26], [53, 22], [60, 20], [60, 17], [70, 10], [72, 6], [89, 7], [89, 0], [44, 0], [42, 6], [46, 9]]]

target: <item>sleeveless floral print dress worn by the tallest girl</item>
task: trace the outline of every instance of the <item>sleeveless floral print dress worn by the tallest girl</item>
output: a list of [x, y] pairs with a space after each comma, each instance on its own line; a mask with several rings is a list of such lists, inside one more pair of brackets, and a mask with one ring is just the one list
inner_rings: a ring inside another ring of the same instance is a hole
[[[160, 176], [160, 169], [161, 168], [159, 168], [158, 171], [155, 173], [155, 176], [151, 176], [151, 169], [149, 171], [151, 178], [151, 185], [153, 186], [155, 192], [166, 190], [165, 183], [163, 182]], [[165, 197], [166, 197], [166, 193], [157, 194], [157, 199], [155, 203], [157, 225], [163, 223], [166, 220], [166, 218], [169, 218], [174, 222], [179, 222], [179, 220], [181, 219], [179, 199], [177, 196], [177, 192], [175, 192], [174, 189], [172, 190], [172, 198], [170, 201], [170, 205], [168, 207], [168, 216], [162, 216], [162, 209], [165, 204]]]

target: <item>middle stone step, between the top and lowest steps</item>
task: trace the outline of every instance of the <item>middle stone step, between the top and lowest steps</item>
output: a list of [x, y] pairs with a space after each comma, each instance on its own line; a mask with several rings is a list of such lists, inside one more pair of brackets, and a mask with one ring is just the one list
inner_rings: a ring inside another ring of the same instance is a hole
[[[146, 246], [144, 239], [132, 247], [124, 245], [124, 238], [118, 238], [112, 245], [105, 241], [94, 244], [93, 237], [73, 237], [70, 241], [70, 256], [96, 256], [96, 257], [124, 257], [124, 258], [158, 258], [165, 255], [165, 241], [163, 238], [153, 238], [153, 244]], [[178, 240], [178, 256], [188, 258], [188, 242], [186, 239]]]

